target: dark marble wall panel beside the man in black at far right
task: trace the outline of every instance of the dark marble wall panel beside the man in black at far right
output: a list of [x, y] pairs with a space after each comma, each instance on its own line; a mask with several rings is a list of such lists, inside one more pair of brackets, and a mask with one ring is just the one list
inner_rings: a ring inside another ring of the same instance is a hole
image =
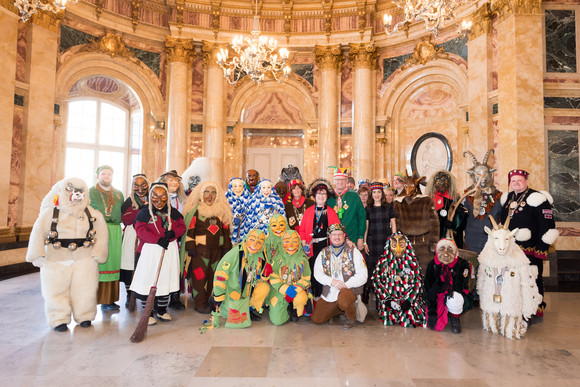
[[549, 190], [554, 197], [554, 220], [580, 222], [578, 131], [548, 131]]

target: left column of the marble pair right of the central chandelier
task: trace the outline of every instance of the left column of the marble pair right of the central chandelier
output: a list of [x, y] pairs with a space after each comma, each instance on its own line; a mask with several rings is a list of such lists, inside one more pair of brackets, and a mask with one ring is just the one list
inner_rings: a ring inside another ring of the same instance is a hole
[[319, 73], [318, 176], [332, 180], [329, 166], [340, 166], [340, 76], [344, 56], [340, 45], [315, 46]]

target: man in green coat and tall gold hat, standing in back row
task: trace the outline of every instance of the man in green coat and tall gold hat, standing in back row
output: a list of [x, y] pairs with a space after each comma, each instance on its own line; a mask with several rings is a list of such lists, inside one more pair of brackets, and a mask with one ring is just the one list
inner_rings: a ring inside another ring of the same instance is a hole
[[356, 244], [359, 250], [364, 248], [364, 236], [366, 232], [366, 212], [360, 197], [346, 186], [346, 172], [350, 168], [334, 168], [334, 185], [336, 198], [329, 197], [328, 205], [338, 214], [340, 223], [346, 230], [347, 238]]

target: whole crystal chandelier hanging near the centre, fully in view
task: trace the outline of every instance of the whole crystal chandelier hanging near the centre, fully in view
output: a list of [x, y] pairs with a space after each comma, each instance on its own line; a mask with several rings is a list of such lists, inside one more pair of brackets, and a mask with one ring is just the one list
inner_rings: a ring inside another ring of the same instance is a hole
[[228, 50], [223, 48], [217, 54], [217, 64], [224, 72], [227, 81], [234, 85], [245, 75], [258, 85], [264, 81], [267, 73], [280, 82], [280, 75], [288, 78], [292, 71], [286, 66], [288, 60], [288, 50], [281, 48], [276, 54], [278, 42], [266, 36], [260, 36], [260, 18], [258, 16], [258, 1], [256, 0], [256, 14], [254, 15], [254, 26], [252, 36], [244, 38], [241, 35], [234, 37], [232, 48], [235, 55], [229, 61]]

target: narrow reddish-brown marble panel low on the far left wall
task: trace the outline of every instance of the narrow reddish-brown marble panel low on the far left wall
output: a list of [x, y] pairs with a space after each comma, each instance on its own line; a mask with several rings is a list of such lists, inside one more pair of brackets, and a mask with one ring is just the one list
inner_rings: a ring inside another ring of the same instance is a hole
[[12, 127], [12, 150], [10, 156], [10, 189], [8, 192], [8, 227], [14, 227], [18, 220], [18, 205], [20, 193], [20, 167], [22, 164], [22, 123], [24, 109], [14, 109], [14, 124]]

